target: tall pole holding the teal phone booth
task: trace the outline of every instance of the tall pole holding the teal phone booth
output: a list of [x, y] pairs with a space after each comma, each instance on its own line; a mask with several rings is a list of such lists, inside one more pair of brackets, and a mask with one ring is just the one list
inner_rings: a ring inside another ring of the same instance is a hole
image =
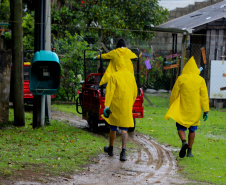
[[[51, 0], [36, 1], [35, 9], [35, 50], [51, 51]], [[51, 96], [34, 95], [33, 128], [50, 123]]]

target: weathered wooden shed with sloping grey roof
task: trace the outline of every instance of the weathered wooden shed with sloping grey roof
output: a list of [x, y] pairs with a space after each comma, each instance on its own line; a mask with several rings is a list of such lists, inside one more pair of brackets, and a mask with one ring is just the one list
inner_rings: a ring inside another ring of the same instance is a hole
[[[226, 84], [224, 64], [226, 60], [226, 0], [168, 21], [159, 27], [188, 31], [189, 34], [183, 36], [186, 41], [186, 59], [194, 56], [198, 67], [204, 68], [201, 75], [206, 80], [210, 98], [226, 100], [226, 93], [220, 91]], [[217, 61], [221, 65], [218, 64], [218, 70], [215, 70]]]

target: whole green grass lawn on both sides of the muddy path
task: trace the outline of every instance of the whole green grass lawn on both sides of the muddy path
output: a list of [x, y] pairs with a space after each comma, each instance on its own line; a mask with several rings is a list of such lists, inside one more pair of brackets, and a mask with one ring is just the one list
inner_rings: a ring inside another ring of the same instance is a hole
[[[164, 120], [169, 98], [148, 96], [154, 106], [144, 101], [144, 118], [136, 119], [136, 131], [179, 150], [181, 141], [175, 122]], [[75, 105], [52, 105], [52, 109], [77, 115]], [[179, 173], [188, 179], [226, 184], [225, 111], [211, 108], [208, 120], [201, 119], [193, 145], [194, 158], [177, 157], [178, 165], [182, 167]], [[46, 176], [74, 173], [90, 163], [93, 156], [102, 153], [103, 143], [108, 143], [106, 137], [97, 137], [59, 121], [52, 120], [49, 126], [32, 129], [32, 114], [26, 113], [25, 117], [25, 127], [9, 125], [0, 130], [0, 180], [1, 177], [13, 179], [16, 173], [23, 176], [23, 171], [38, 171]], [[10, 121], [13, 121], [12, 109]], [[133, 146], [128, 143], [128, 147]], [[175, 156], [178, 153], [174, 152]]]

